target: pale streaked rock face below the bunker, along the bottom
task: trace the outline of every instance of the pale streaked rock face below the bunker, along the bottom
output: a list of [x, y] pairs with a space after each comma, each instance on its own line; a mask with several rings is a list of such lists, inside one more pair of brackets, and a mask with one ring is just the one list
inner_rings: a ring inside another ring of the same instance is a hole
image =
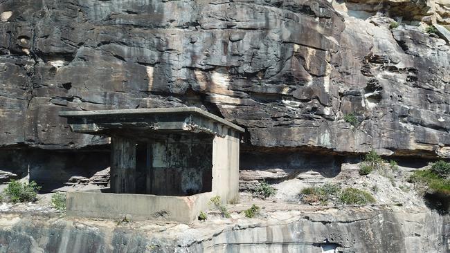
[[449, 216], [426, 209], [278, 211], [206, 223], [0, 217], [0, 252], [448, 252]]

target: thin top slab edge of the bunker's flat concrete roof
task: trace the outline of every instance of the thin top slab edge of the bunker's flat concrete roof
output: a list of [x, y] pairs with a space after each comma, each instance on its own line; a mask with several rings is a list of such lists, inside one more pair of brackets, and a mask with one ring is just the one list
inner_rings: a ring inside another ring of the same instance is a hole
[[[213, 122], [219, 122], [227, 127], [231, 127], [236, 131], [244, 133], [242, 127], [237, 126], [227, 120], [217, 117], [212, 113], [201, 110], [197, 107], [171, 107], [171, 108], [152, 108], [152, 109], [120, 109], [120, 110], [99, 110], [99, 111], [60, 111], [60, 116], [64, 118], [76, 118], [76, 119], [93, 119], [99, 117], [109, 117], [109, 116], [127, 116], [133, 117], [138, 116], [148, 116], [154, 117], [156, 115], [197, 115], [201, 118], [206, 118], [207, 120], [212, 120]], [[70, 123], [69, 123], [70, 124]], [[76, 123], [75, 123], [76, 124]]]

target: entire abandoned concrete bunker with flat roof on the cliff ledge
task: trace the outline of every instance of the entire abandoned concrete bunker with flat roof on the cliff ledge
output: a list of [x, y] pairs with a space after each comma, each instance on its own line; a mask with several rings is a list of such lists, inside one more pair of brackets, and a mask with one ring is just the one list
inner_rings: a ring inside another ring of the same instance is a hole
[[62, 111], [71, 130], [111, 138], [110, 188], [67, 193], [67, 214], [190, 222], [238, 199], [241, 127], [195, 107]]

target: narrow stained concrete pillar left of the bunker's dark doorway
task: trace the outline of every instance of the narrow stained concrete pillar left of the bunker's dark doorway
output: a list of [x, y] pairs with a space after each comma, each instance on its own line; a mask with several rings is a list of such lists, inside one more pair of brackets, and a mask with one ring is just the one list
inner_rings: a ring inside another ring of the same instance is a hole
[[111, 191], [136, 193], [136, 142], [133, 140], [111, 138]]

